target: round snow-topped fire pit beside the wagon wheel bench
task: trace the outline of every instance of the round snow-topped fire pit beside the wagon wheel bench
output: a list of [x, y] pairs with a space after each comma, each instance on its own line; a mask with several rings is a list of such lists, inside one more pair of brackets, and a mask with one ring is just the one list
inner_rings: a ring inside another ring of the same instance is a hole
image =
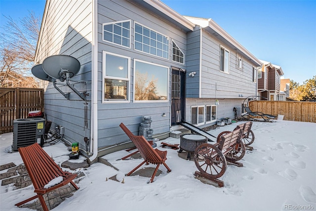
[[197, 134], [183, 134], [180, 136], [180, 150], [178, 153], [183, 151], [188, 152], [187, 159], [191, 160], [191, 154], [194, 153], [197, 147], [201, 144], [207, 143], [205, 136]]

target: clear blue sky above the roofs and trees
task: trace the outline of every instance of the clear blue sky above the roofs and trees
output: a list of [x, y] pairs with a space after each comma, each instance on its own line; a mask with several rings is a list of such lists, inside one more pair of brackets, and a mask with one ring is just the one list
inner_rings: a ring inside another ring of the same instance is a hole
[[[212, 18], [261, 60], [282, 67], [284, 78], [303, 84], [316, 75], [315, 0], [162, 0], [181, 15]], [[45, 0], [0, 0], [4, 16], [19, 20]], [[2, 29], [1, 29], [2, 30]]]

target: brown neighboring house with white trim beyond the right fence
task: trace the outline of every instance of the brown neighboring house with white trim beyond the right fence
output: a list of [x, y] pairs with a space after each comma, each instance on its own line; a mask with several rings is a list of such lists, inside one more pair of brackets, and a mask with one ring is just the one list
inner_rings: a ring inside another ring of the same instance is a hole
[[280, 66], [269, 61], [260, 60], [263, 65], [258, 69], [258, 95], [263, 97], [261, 100], [278, 101], [280, 100], [280, 79], [284, 75]]

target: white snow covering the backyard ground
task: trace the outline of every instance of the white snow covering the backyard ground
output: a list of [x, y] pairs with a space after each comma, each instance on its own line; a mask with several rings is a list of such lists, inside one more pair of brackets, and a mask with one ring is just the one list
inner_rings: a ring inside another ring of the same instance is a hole
[[[210, 133], [217, 136], [233, 130], [238, 123]], [[254, 150], [240, 160], [243, 167], [228, 165], [217, 188], [196, 179], [194, 161], [178, 156], [176, 150], [161, 148], [161, 141], [179, 144], [180, 139], [160, 140], [159, 150], [167, 150], [170, 173], [161, 165], [162, 174], [153, 183], [141, 176], [124, 176], [142, 159], [117, 160], [129, 153], [119, 151], [104, 156], [119, 170], [95, 163], [83, 171], [80, 189], [53, 210], [59, 211], [280, 211], [316, 210], [316, 123], [276, 121], [253, 122]], [[5, 153], [12, 144], [12, 133], [0, 135], [0, 165], [22, 163], [19, 153]], [[68, 160], [63, 143], [43, 148], [56, 163]], [[82, 157], [80, 157], [82, 159]], [[154, 165], [143, 167], [150, 167]], [[155, 166], [154, 166], [155, 167]], [[0, 171], [0, 173], [6, 170]], [[124, 183], [108, 180], [113, 175]], [[29, 210], [14, 204], [34, 195], [33, 186], [14, 189], [0, 187], [0, 210]]]

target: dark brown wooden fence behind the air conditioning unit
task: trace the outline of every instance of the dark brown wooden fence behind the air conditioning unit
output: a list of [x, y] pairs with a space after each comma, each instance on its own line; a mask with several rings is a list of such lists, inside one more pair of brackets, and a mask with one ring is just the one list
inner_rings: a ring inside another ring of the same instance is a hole
[[0, 134], [13, 131], [14, 119], [27, 118], [30, 111], [43, 107], [43, 89], [0, 88]]

